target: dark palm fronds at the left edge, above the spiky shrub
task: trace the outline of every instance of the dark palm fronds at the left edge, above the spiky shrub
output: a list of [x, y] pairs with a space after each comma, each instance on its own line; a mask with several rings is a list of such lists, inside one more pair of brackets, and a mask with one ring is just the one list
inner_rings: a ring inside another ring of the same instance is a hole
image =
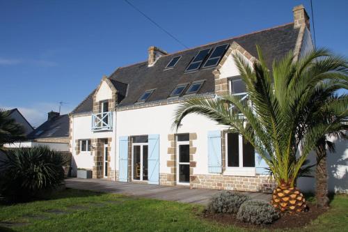
[[3, 144], [12, 144], [24, 138], [24, 127], [10, 117], [10, 111], [0, 109], [0, 150]]

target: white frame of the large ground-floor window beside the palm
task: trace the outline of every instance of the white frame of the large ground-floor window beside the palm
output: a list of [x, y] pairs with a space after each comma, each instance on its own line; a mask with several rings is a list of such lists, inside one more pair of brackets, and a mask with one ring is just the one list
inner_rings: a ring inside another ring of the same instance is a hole
[[[228, 132], [225, 132], [225, 176], [255, 176], [255, 167], [243, 167], [243, 136], [238, 134], [239, 167], [228, 167]], [[255, 152], [254, 152], [255, 153]]]

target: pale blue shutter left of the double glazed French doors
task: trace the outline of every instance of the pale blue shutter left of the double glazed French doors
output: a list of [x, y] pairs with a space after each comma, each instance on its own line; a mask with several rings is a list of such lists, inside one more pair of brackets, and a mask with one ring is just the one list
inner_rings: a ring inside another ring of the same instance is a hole
[[122, 136], [119, 140], [120, 162], [118, 163], [118, 180], [128, 182], [128, 137]]

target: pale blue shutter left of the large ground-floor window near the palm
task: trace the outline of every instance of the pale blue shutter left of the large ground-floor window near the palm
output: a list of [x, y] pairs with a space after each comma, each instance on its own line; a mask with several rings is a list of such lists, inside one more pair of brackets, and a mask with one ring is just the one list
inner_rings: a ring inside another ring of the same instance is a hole
[[222, 172], [221, 132], [219, 130], [208, 132], [208, 171], [209, 173]]

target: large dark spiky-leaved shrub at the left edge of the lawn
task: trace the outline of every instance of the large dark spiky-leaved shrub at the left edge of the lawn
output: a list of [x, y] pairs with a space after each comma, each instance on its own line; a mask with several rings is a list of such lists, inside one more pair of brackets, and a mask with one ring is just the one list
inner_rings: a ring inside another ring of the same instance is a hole
[[8, 150], [0, 163], [0, 194], [10, 201], [28, 201], [60, 185], [63, 156], [46, 146]]

